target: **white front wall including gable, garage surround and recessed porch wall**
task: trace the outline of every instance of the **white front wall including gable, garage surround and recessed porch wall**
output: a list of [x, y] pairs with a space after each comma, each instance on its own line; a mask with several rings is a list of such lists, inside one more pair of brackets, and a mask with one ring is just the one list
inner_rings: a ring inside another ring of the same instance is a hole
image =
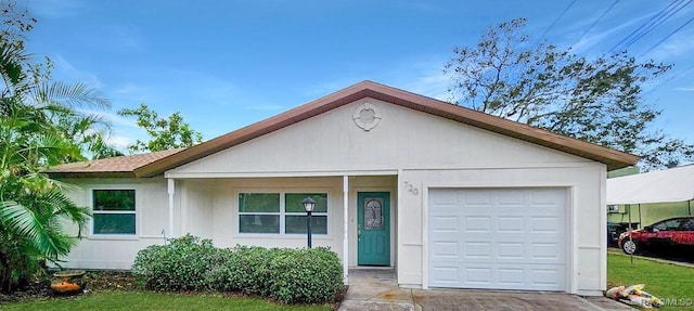
[[[376, 105], [382, 117], [370, 131], [352, 119], [367, 102]], [[177, 195], [182, 193], [183, 232], [211, 236], [218, 246], [303, 247], [306, 237], [300, 235], [239, 234], [237, 193], [324, 189], [330, 196], [330, 234], [316, 236], [314, 243], [331, 246], [342, 257], [342, 177], [349, 176], [349, 265], [356, 264], [357, 192], [389, 191], [391, 261], [398, 282], [414, 287], [426, 287], [429, 187], [565, 187], [570, 208], [566, 288], [596, 295], [606, 284], [605, 170], [605, 165], [589, 159], [363, 99], [171, 169], [165, 177], [185, 187], [177, 189]], [[164, 182], [162, 186], [165, 206]]]

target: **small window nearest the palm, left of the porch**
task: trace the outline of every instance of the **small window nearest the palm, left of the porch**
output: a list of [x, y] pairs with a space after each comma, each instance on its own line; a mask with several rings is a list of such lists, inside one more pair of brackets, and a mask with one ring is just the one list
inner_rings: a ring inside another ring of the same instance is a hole
[[92, 190], [92, 234], [136, 234], [134, 190]]

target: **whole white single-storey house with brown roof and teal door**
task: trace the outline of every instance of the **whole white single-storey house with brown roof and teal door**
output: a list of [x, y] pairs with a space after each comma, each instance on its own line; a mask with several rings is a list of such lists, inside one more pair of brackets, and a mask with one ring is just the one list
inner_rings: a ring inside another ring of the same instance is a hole
[[402, 287], [602, 295], [607, 170], [635, 156], [363, 81], [194, 147], [50, 172], [93, 219], [66, 267], [129, 269], [191, 233], [313, 245]]

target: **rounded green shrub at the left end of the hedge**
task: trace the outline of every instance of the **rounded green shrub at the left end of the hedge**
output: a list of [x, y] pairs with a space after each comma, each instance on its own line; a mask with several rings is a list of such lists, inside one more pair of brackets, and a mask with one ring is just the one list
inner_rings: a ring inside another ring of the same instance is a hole
[[209, 289], [207, 274], [222, 260], [210, 239], [185, 235], [168, 245], [152, 245], [138, 252], [132, 272], [155, 290]]

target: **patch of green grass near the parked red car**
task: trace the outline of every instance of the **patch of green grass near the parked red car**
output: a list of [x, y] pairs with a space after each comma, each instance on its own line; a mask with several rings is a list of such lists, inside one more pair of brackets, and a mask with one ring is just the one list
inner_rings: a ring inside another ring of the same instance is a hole
[[[660, 310], [694, 311], [694, 268], [656, 262], [619, 254], [607, 255], [607, 281], [618, 285], [645, 284], [643, 290], [667, 302]], [[674, 301], [677, 300], [677, 301]]]

